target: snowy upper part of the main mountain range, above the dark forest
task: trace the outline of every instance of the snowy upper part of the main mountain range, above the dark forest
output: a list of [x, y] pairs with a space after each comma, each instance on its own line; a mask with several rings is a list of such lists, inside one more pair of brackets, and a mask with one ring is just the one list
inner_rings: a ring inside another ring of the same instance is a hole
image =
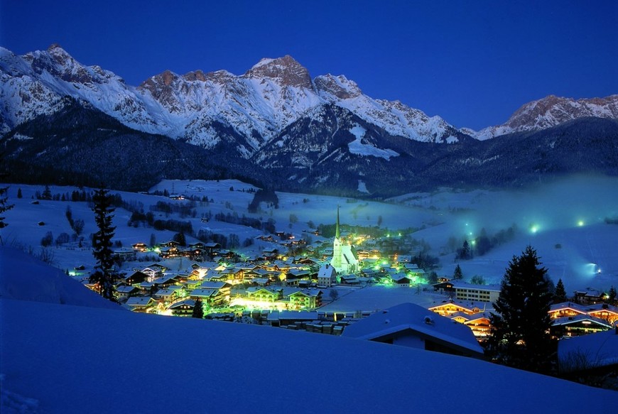
[[253, 155], [286, 126], [312, 110], [334, 104], [391, 135], [416, 141], [457, 141], [458, 132], [439, 116], [429, 117], [401, 102], [372, 99], [344, 76], [318, 76], [291, 56], [263, 59], [244, 75], [200, 70], [166, 71], [139, 87], [101, 67], [87, 67], [58, 45], [17, 56], [0, 48], [0, 132], [49, 114], [70, 96], [139, 131], [185, 138], [206, 148], [232, 129], [239, 153]]

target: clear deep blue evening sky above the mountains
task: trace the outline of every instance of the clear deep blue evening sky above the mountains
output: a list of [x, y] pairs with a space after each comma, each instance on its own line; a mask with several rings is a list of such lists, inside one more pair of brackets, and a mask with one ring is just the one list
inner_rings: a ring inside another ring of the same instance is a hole
[[292, 55], [455, 126], [555, 94], [618, 94], [618, 1], [0, 0], [0, 45], [59, 43], [139, 85], [169, 69], [241, 75]]

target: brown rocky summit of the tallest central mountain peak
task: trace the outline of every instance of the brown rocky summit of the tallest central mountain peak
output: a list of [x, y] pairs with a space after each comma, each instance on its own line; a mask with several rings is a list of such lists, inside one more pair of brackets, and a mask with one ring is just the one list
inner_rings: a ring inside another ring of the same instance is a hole
[[269, 78], [281, 86], [304, 87], [311, 89], [313, 84], [309, 71], [300, 65], [290, 55], [283, 58], [262, 59], [254, 67], [251, 67], [243, 77], [251, 79]]

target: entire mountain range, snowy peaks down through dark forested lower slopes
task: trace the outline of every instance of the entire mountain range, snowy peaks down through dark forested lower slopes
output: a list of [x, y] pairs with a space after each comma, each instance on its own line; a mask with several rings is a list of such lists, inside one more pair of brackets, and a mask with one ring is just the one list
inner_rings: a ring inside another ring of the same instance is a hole
[[[109, 165], [100, 164], [118, 148], [125, 149], [117, 158], [143, 179], [108, 183], [133, 190], [153, 185], [149, 175], [243, 175], [292, 191], [394, 195], [421, 184], [517, 184], [522, 176], [571, 172], [573, 165], [576, 172], [617, 168], [618, 95], [547, 97], [502, 126], [472, 131], [401, 102], [372, 99], [343, 75], [312, 78], [291, 56], [263, 59], [243, 75], [165, 71], [134, 87], [80, 64], [58, 45], [23, 56], [0, 48], [0, 81], [0, 143], [11, 168], [33, 182], [45, 178], [41, 168], [55, 170], [59, 183], [75, 184], [67, 180], [76, 176], [87, 185], [109, 180]], [[596, 121], [584, 121], [591, 116]], [[551, 132], [565, 125], [569, 134]], [[543, 134], [526, 135], [537, 133]], [[510, 138], [494, 138], [503, 134]], [[538, 151], [540, 143], [546, 151]], [[148, 162], [139, 156], [146, 153]], [[565, 159], [572, 162], [563, 168]]]

